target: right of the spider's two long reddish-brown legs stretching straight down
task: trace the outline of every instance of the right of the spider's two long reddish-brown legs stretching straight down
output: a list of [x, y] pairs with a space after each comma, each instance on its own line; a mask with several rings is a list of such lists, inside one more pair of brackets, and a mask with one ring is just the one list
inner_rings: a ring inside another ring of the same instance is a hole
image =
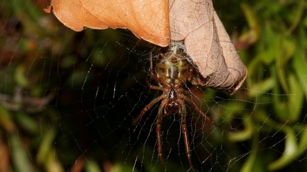
[[178, 98], [177, 101], [179, 102], [179, 104], [181, 106], [181, 125], [182, 125], [183, 138], [185, 140], [185, 153], [187, 154], [191, 170], [194, 172], [194, 168], [193, 168], [192, 162], [191, 162], [191, 151], [190, 151], [188, 130], [187, 130], [186, 119], [185, 119], [186, 114], [187, 114], [186, 106], [185, 106], [185, 103], [183, 102], [183, 100], [181, 98]]

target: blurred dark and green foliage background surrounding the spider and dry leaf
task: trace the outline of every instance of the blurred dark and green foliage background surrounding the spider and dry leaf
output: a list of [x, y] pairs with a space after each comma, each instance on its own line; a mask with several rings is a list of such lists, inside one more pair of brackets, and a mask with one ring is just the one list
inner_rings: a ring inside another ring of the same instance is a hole
[[[197, 171], [307, 171], [307, 2], [220, 0], [214, 7], [248, 76], [234, 95], [189, 95]], [[146, 87], [154, 45], [123, 29], [74, 32], [47, 0], [0, 2], [0, 171], [164, 171]], [[154, 81], [152, 81], [154, 84]], [[188, 171], [180, 117], [163, 118], [169, 171]], [[189, 170], [191, 171], [191, 170]]]

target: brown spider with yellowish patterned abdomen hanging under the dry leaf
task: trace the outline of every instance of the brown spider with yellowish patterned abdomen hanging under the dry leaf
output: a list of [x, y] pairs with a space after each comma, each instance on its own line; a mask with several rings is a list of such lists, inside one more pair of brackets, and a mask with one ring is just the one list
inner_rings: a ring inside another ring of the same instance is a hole
[[[162, 165], [165, 167], [162, 158], [162, 143], [161, 143], [161, 124], [162, 124], [162, 114], [165, 116], [169, 114], [178, 114], [181, 115], [181, 125], [182, 132], [184, 136], [185, 142], [185, 152], [188, 157], [188, 163], [194, 171], [191, 163], [191, 152], [189, 148], [189, 139], [186, 127], [186, 106], [183, 100], [185, 100], [188, 104], [191, 105], [199, 114], [201, 114], [208, 122], [216, 125], [215, 122], [211, 120], [204, 112], [200, 110], [199, 107], [196, 106], [195, 103], [192, 102], [191, 99], [183, 95], [184, 93], [193, 92], [196, 89], [184, 90], [181, 88], [182, 84], [188, 80], [191, 76], [194, 66], [191, 65], [187, 61], [187, 55], [182, 52], [182, 49], [178, 48], [178, 43], [172, 43], [170, 52], [165, 54], [160, 54], [160, 57], [156, 62], [156, 74], [153, 69], [153, 59], [152, 54], [150, 54], [150, 75], [151, 77], [158, 82], [158, 85], [151, 85], [149, 81], [149, 77], [146, 77], [146, 84], [149, 88], [155, 90], [163, 91], [163, 94], [153, 99], [149, 104], [147, 104], [138, 115], [137, 118], [134, 119], [133, 125], [135, 125], [154, 104], [158, 101], [161, 101], [161, 104], [158, 109], [157, 115], [157, 124], [156, 124], [156, 133], [157, 133], [157, 148], [158, 155], [161, 160]], [[166, 168], [166, 167], [165, 167]]]

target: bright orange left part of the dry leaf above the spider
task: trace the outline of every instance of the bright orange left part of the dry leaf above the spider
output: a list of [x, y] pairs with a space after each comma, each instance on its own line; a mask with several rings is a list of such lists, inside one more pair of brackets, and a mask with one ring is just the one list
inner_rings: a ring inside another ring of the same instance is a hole
[[59, 21], [75, 31], [84, 26], [127, 28], [150, 43], [169, 45], [167, 0], [51, 0], [50, 6]]

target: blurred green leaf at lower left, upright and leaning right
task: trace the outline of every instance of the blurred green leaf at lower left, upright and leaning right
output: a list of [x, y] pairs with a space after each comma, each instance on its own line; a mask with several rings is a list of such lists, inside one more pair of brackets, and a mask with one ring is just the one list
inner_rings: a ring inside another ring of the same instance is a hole
[[55, 129], [49, 129], [49, 131], [45, 133], [45, 135], [43, 136], [36, 159], [38, 164], [46, 162], [50, 154], [50, 151], [52, 151], [52, 144], [55, 136], [56, 136]]

